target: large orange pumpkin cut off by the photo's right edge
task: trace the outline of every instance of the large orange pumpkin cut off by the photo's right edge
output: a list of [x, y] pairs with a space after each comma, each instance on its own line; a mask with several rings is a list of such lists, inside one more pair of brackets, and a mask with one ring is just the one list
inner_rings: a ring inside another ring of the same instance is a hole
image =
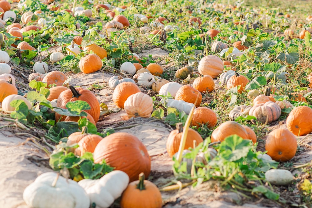
[[287, 129], [296, 136], [312, 132], [312, 109], [309, 106], [298, 106], [290, 111], [286, 119]]

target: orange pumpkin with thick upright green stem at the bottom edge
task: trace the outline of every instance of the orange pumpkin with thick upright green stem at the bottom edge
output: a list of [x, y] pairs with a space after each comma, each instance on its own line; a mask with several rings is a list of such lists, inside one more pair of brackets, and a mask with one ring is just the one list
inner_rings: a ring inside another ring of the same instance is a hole
[[157, 186], [144, 180], [144, 173], [139, 174], [139, 180], [129, 183], [121, 195], [121, 208], [161, 208], [162, 197]]

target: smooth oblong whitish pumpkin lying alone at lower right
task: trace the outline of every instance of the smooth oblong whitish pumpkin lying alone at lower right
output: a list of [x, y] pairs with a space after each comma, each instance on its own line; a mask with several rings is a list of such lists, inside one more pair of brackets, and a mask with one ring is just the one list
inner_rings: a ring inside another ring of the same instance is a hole
[[289, 170], [271, 169], [264, 174], [266, 180], [272, 185], [288, 185], [293, 181], [293, 176]]

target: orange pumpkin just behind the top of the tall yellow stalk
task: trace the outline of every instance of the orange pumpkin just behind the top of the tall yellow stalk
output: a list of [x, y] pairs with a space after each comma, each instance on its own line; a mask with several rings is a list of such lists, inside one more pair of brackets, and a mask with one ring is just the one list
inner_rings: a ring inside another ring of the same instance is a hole
[[[197, 98], [197, 102], [196, 102], [196, 98]], [[193, 103], [195, 104], [196, 107], [199, 107], [200, 104], [202, 103], [202, 94], [197, 89], [192, 87], [191, 85], [183, 85], [182, 87], [178, 89], [178, 92], [175, 95], [175, 99]]]

